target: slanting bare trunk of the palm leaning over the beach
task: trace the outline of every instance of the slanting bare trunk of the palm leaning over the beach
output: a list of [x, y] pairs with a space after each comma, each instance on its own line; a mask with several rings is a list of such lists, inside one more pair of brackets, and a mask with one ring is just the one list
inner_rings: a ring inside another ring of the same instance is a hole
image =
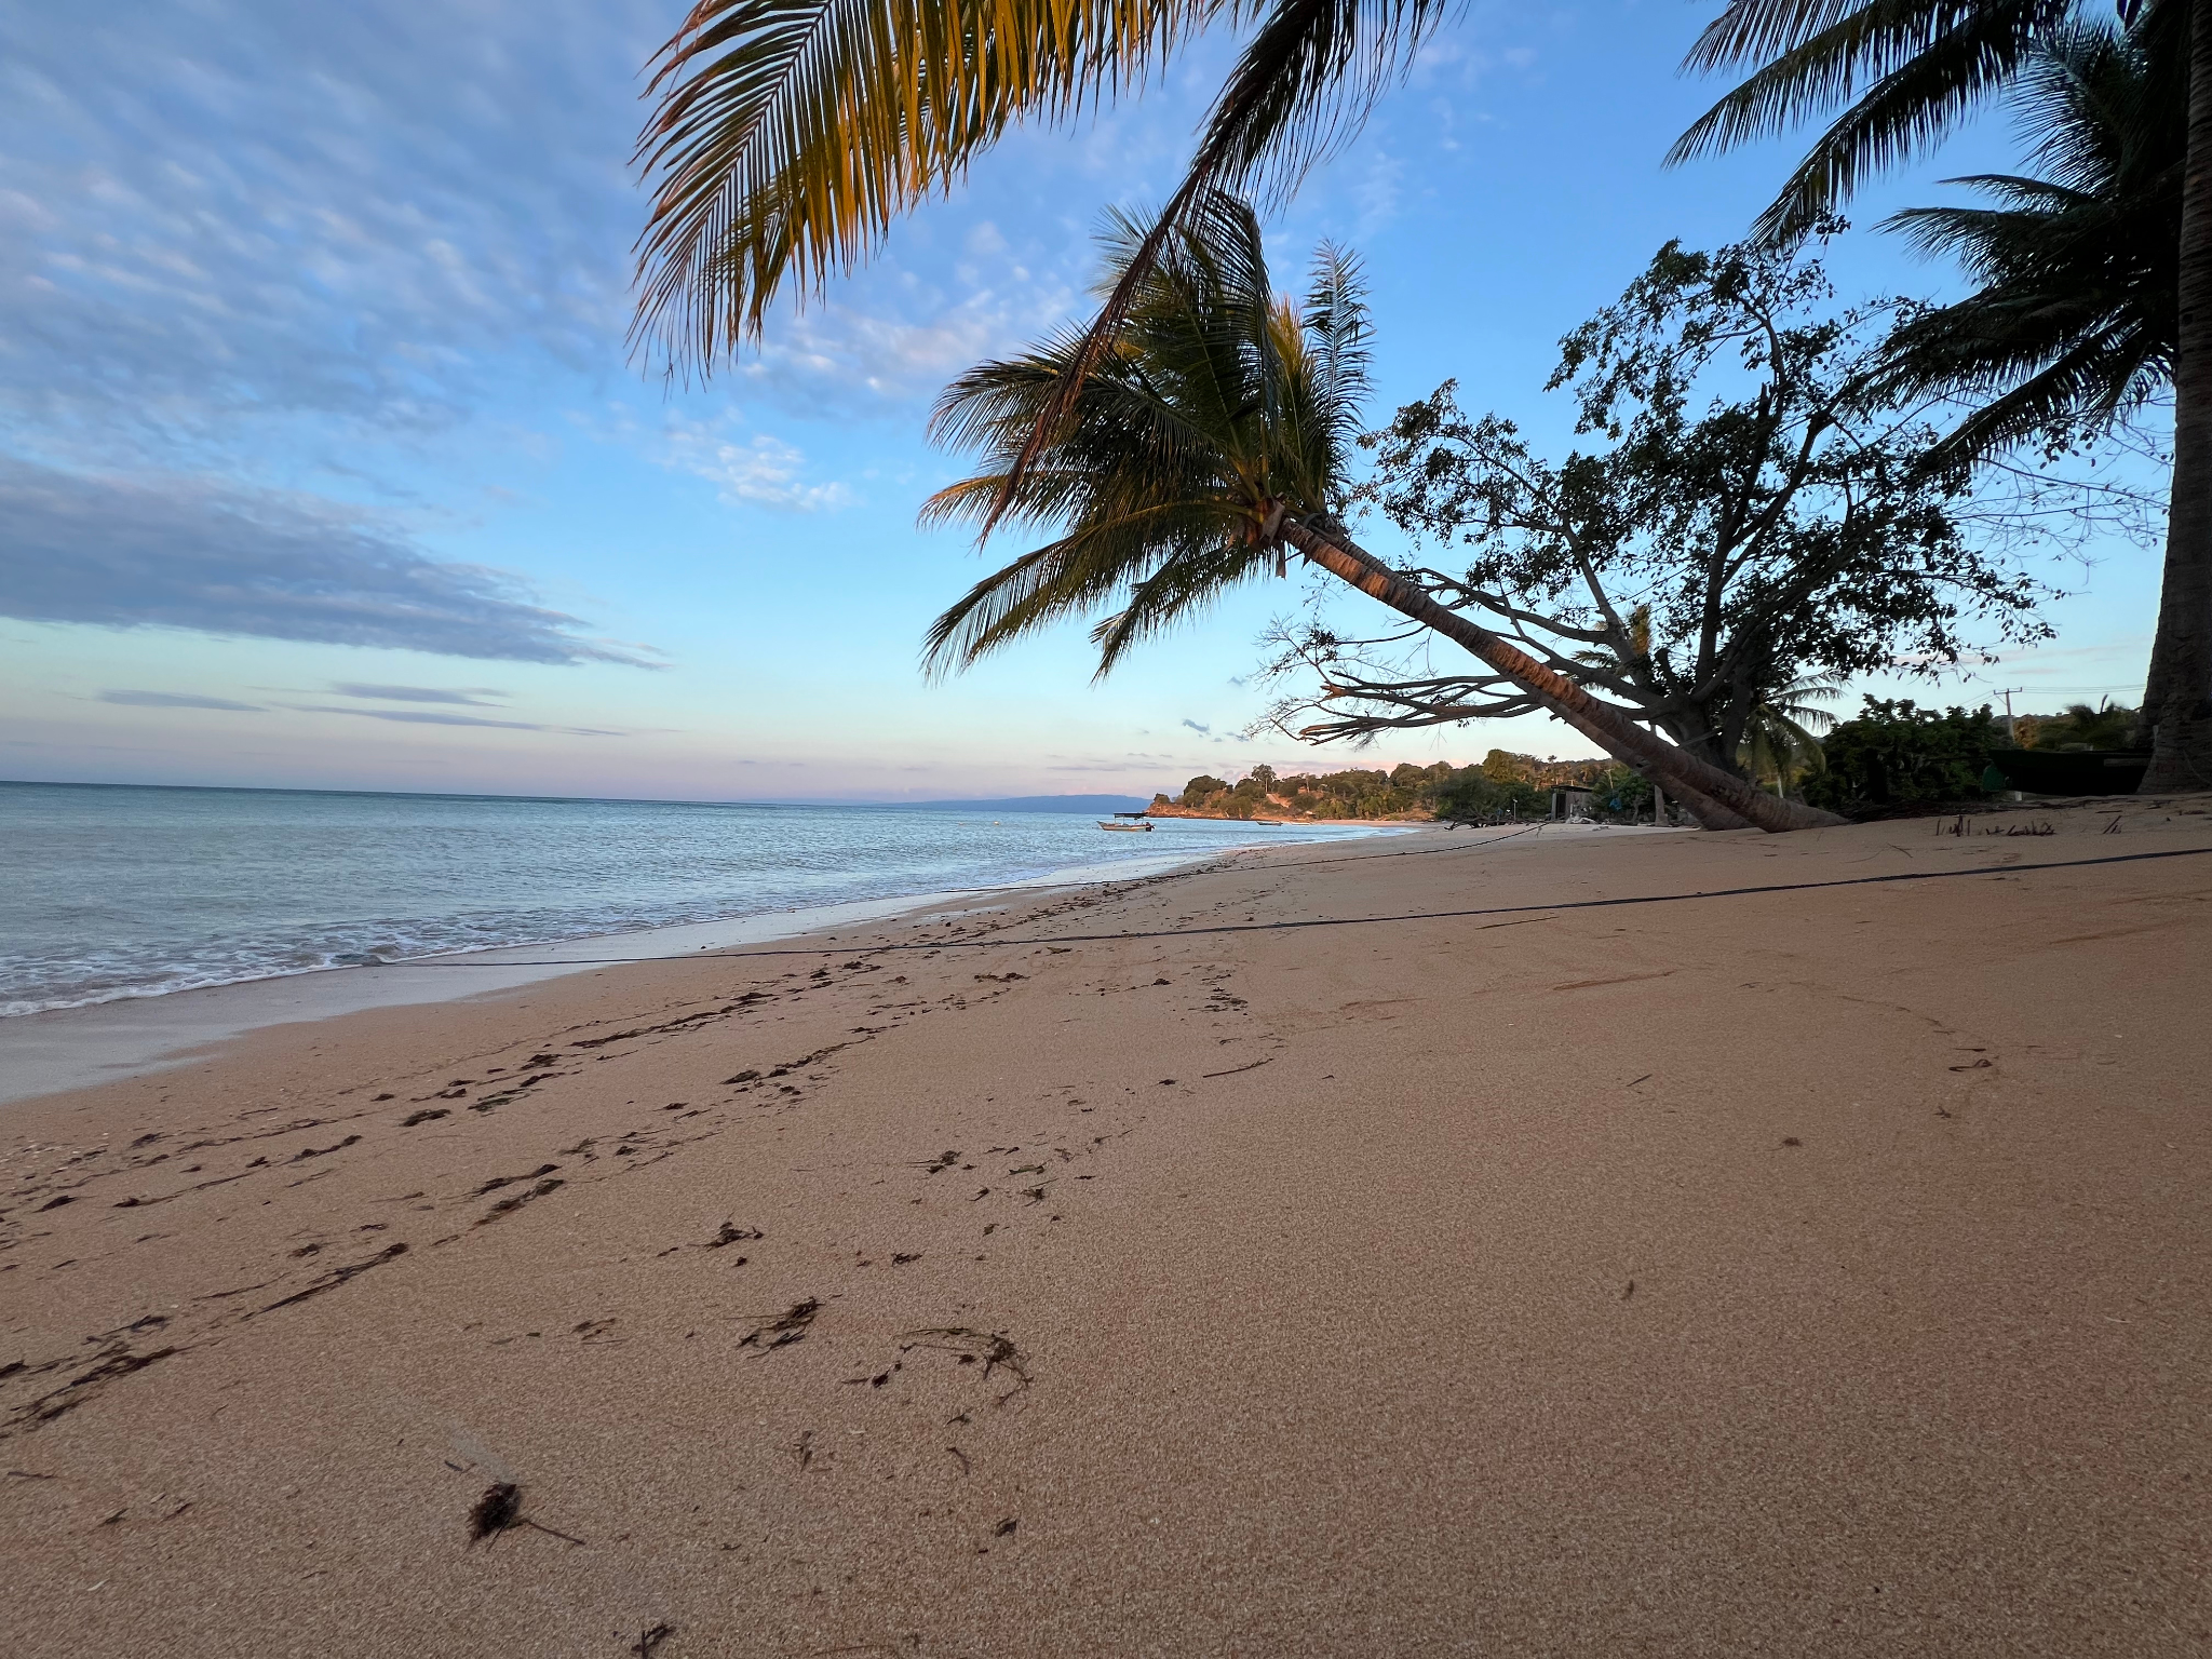
[[1433, 628], [1447, 639], [1464, 646], [1500, 675], [1535, 697], [1544, 708], [1564, 719], [1577, 732], [1606, 750], [1613, 759], [1632, 765], [1652, 783], [1666, 783], [1708, 830], [1816, 830], [1843, 823], [1832, 812], [1807, 807], [1798, 801], [1776, 801], [1765, 790], [1710, 765], [1694, 754], [1637, 726], [1613, 703], [1590, 697], [1582, 686], [1555, 675], [1526, 650], [1506, 644], [1489, 628], [1482, 628], [1458, 611], [1447, 611], [1411, 582], [1396, 575], [1380, 560], [1360, 549], [1345, 546], [1345, 538], [1327, 538], [1283, 518], [1279, 533], [1298, 549], [1312, 564], [1329, 575], [1349, 582], [1371, 599], [1380, 599], [1402, 617]]

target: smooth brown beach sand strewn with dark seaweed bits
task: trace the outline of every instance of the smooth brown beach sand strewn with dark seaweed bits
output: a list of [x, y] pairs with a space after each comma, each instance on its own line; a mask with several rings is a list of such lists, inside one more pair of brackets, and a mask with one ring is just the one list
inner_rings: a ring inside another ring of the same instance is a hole
[[2197, 849], [1427, 832], [20, 1102], [0, 1650], [2201, 1655], [2212, 856], [2033, 869]]

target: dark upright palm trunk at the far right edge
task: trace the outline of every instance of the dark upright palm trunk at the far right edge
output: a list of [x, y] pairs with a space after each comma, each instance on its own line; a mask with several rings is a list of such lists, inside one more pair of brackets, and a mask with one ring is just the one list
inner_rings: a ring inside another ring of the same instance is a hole
[[2181, 175], [2174, 482], [2143, 721], [2143, 790], [2212, 790], [2212, 0], [2190, 7], [2190, 159]]

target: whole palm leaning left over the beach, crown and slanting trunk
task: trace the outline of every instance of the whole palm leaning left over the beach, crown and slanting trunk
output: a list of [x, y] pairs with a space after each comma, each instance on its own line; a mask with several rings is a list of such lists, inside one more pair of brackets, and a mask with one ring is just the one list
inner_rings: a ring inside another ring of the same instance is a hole
[[[1150, 250], [1141, 274], [1130, 268]], [[1345, 533], [1347, 456], [1367, 392], [1367, 305], [1354, 261], [1323, 248], [1303, 301], [1274, 294], [1250, 204], [1206, 192], [1170, 237], [1130, 217], [1108, 234], [1102, 292], [1128, 301], [1064, 416], [1040, 414], [1086, 352], [1084, 332], [962, 374], [938, 400], [938, 440], [984, 471], [929, 498], [922, 520], [1006, 522], [1051, 538], [993, 571], [929, 630], [925, 664], [953, 670], [1073, 615], [1099, 675], [1133, 644], [1296, 551], [1310, 564], [1458, 641], [1615, 759], [1663, 783], [1714, 830], [1801, 830], [1838, 818], [1778, 801], [1668, 743], [1495, 633], [1431, 599]], [[1026, 462], [1024, 462], [1026, 456]]]

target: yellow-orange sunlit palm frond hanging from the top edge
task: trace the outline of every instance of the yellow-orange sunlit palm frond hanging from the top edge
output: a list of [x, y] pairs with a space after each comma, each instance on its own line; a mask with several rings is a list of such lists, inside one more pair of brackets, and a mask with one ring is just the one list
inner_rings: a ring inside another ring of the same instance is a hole
[[1135, 86], [1232, 0], [697, 0], [655, 58], [637, 334], [701, 367], [867, 259], [1024, 115]]

